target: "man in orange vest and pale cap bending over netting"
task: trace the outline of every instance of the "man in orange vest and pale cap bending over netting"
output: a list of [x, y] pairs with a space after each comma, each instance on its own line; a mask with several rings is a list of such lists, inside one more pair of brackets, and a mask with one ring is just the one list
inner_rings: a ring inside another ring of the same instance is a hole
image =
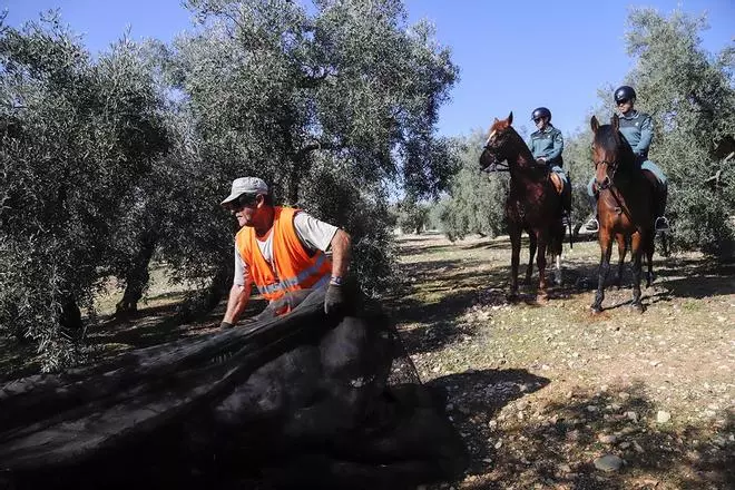
[[[350, 264], [350, 235], [292, 207], [274, 206], [266, 183], [257, 177], [236, 178], [222, 202], [241, 226], [235, 236], [235, 277], [220, 326], [237, 323], [251, 297], [254, 283], [268, 301], [258, 317], [290, 312], [291, 293], [327, 287], [324, 312], [345, 306], [343, 278]], [[332, 251], [332, 259], [325, 252]]]

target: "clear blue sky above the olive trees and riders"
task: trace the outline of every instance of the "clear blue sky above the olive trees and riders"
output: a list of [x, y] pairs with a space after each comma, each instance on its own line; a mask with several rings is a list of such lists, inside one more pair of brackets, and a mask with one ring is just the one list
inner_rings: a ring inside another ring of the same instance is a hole
[[[565, 134], [587, 127], [597, 89], [619, 85], [633, 67], [625, 51], [628, 9], [653, 7], [707, 12], [704, 47], [719, 51], [735, 42], [733, 0], [493, 1], [408, 0], [410, 22], [429, 19], [442, 46], [452, 50], [460, 81], [442, 108], [447, 136], [487, 128], [513, 111], [516, 126], [530, 128], [530, 112], [547, 106]], [[568, 6], [574, 4], [574, 8]], [[81, 35], [91, 51], [105, 49], [129, 26], [134, 39], [171, 40], [192, 29], [179, 0], [0, 0], [7, 21], [18, 26], [49, 8]], [[645, 107], [643, 107], [645, 109]]]

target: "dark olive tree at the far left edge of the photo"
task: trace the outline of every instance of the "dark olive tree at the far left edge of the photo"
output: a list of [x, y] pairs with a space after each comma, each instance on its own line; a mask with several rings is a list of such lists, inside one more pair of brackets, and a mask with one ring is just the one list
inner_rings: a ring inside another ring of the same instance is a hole
[[92, 62], [53, 14], [0, 33], [0, 326], [45, 370], [75, 357], [118, 204], [167, 146], [148, 71], [126, 40]]

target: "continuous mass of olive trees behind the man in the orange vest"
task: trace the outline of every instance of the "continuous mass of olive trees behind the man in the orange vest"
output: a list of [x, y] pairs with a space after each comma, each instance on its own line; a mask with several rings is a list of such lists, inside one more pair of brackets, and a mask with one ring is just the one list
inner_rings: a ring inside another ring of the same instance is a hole
[[98, 59], [53, 12], [0, 23], [0, 329], [33, 339], [47, 371], [77, 359], [78, 306], [94, 313], [110, 275], [143, 291], [154, 249], [175, 281], [226, 285], [234, 178], [345, 227], [379, 294], [388, 188], [433, 197], [458, 165], [435, 135], [458, 69], [401, 1], [187, 4], [194, 33]]

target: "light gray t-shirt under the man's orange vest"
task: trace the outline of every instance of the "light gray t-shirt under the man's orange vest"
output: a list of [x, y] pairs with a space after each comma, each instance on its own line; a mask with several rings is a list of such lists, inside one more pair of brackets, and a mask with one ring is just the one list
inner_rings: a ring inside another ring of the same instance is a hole
[[[317, 249], [326, 252], [330, 248], [334, 234], [339, 229], [336, 226], [321, 222], [304, 212], [298, 212], [294, 216], [294, 228], [296, 228], [296, 236], [298, 236], [301, 243], [310, 252], [316, 252]], [[268, 233], [268, 237], [265, 241], [256, 239], [255, 242], [263, 254], [263, 258], [273, 267], [273, 233]], [[237, 245], [235, 245], [235, 277], [233, 284], [244, 286], [246, 274], [247, 264], [239, 256]]]

